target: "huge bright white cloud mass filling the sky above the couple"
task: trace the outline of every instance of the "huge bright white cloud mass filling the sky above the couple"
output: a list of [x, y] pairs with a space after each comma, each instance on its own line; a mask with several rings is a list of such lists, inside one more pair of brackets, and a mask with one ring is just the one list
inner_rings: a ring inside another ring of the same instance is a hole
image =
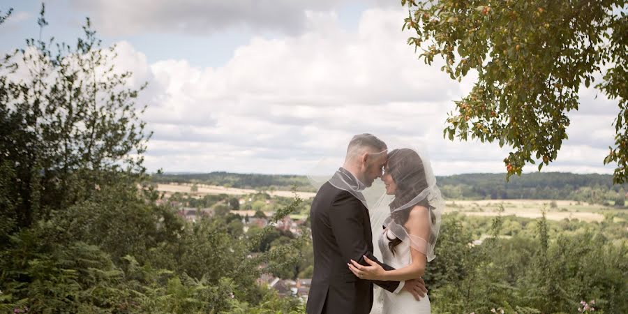
[[[142, 101], [155, 135], [146, 165], [303, 174], [320, 158], [342, 156], [352, 135], [370, 132], [422, 143], [437, 175], [503, 172], [508, 149], [442, 138], [451, 100], [470, 89], [473, 77], [458, 83], [440, 72], [440, 61], [417, 60], [405, 45], [410, 34], [399, 31], [406, 14], [366, 10], [357, 30], [346, 31], [335, 13], [308, 13], [304, 33], [255, 37], [218, 68], [185, 60], [148, 64], [120, 43], [120, 64], [139, 73], [137, 82], [150, 80]], [[570, 140], [547, 170], [612, 172], [602, 160], [614, 132], [613, 102], [585, 91], [583, 99], [582, 112], [570, 114]]]

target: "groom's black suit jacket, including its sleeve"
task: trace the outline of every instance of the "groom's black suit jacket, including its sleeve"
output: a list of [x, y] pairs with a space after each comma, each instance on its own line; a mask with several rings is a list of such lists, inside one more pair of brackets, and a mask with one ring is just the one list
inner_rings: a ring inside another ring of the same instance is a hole
[[350, 260], [367, 265], [363, 257], [366, 255], [384, 269], [394, 269], [373, 256], [368, 210], [354, 195], [327, 182], [314, 197], [310, 215], [314, 274], [306, 312], [369, 313], [373, 306], [373, 283], [394, 292], [399, 282], [362, 280], [347, 267]]

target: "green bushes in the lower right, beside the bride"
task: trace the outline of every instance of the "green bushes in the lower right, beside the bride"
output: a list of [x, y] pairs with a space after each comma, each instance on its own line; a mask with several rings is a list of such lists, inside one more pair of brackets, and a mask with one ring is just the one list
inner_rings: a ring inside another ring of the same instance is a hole
[[434, 313], [491, 313], [493, 308], [573, 313], [580, 300], [595, 300], [595, 311], [628, 311], [620, 297], [628, 293], [628, 242], [621, 231], [626, 223], [608, 230], [590, 223], [519, 219], [534, 230], [504, 237], [512, 218], [498, 216], [484, 218], [488, 223], [480, 229], [488, 238], [469, 245], [475, 238], [471, 230], [477, 229], [469, 219], [443, 217], [437, 258], [428, 263], [425, 276]]

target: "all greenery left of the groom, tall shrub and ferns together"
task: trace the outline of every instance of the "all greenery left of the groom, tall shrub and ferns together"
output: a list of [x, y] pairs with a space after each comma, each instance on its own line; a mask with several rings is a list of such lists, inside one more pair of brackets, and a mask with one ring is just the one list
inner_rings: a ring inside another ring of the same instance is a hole
[[157, 205], [143, 87], [128, 88], [89, 20], [74, 48], [50, 45], [29, 39], [0, 63], [0, 312], [302, 312], [256, 279], [298, 264], [306, 236], [255, 254], [274, 227], [247, 237], [226, 195], [202, 201], [227, 212], [196, 223]]

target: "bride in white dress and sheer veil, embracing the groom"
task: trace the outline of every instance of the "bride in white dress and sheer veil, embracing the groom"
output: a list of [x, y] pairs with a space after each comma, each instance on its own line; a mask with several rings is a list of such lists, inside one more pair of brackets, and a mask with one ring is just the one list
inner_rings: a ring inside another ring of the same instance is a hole
[[[434, 259], [434, 246], [440, 228], [444, 202], [436, 179], [426, 158], [412, 149], [394, 149], [388, 154], [382, 181], [386, 195], [370, 209], [371, 225], [378, 234], [376, 240], [382, 262], [396, 269], [384, 270], [368, 260], [371, 266], [351, 261], [349, 268], [359, 278], [378, 281], [405, 281], [425, 274], [428, 261]], [[375, 239], [374, 239], [375, 241]], [[416, 301], [409, 293], [378, 292], [373, 312], [431, 313], [426, 295]], [[373, 313], [371, 312], [371, 313]]]

